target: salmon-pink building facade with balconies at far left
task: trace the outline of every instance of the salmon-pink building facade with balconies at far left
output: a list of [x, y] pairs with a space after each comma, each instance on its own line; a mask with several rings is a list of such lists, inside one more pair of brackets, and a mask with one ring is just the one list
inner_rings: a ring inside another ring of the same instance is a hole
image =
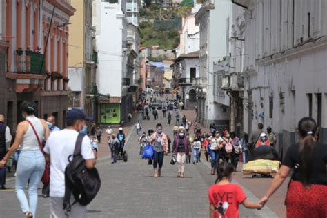
[[54, 115], [63, 128], [68, 102], [66, 24], [75, 8], [70, 1], [52, 0], [8, 0], [0, 4], [0, 111], [15, 130], [23, 120], [21, 103], [34, 101], [38, 117]]

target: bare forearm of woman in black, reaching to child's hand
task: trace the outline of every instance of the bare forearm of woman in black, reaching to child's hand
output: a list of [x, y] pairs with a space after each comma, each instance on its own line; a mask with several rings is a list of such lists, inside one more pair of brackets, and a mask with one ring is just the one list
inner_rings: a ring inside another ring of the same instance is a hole
[[281, 165], [281, 168], [277, 172], [275, 178], [271, 182], [270, 188], [266, 192], [266, 195], [260, 199], [260, 204], [264, 205], [268, 201], [269, 197], [275, 193], [275, 191], [283, 184], [291, 168], [285, 165]]

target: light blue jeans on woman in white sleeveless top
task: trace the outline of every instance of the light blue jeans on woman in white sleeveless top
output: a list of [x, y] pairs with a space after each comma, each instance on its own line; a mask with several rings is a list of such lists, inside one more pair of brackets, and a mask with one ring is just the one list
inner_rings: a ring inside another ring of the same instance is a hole
[[[33, 217], [37, 212], [37, 186], [43, 176], [46, 161], [39, 150], [23, 150], [19, 155], [16, 172], [16, 193], [23, 212], [32, 212]], [[28, 183], [28, 195], [30, 204], [25, 195], [25, 187]]]

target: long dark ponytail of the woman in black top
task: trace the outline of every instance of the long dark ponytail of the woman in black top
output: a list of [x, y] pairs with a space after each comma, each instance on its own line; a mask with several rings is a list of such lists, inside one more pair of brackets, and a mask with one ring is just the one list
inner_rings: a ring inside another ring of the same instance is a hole
[[299, 121], [297, 127], [301, 141], [299, 143], [299, 173], [304, 178], [304, 184], [310, 183], [311, 167], [313, 159], [313, 149], [315, 148], [315, 134], [317, 133], [317, 123], [310, 117], [304, 117]]

